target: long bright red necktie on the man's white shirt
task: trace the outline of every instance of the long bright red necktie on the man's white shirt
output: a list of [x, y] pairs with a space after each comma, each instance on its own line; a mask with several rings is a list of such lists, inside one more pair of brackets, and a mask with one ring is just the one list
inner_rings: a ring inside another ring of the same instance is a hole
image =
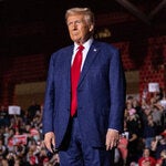
[[82, 63], [82, 51], [84, 46], [80, 45], [75, 54], [73, 65], [71, 68], [71, 116], [74, 116], [77, 108], [77, 83], [80, 79], [81, 63]]

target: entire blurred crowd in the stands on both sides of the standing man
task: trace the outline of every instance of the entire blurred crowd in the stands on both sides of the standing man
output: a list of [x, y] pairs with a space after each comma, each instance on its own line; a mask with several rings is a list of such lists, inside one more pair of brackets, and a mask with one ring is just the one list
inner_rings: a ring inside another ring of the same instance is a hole
[[[166, 165], [166, 106], [163, 95], [138, 101], [127, 96], [124, 132], [115, 148], [117, 166]], [[0, 108], [0, 166], [54, 166], [59, 154], [49, 153], [43, 144], [42, 110], [33, 103], [20, 115], [9, 115]]]

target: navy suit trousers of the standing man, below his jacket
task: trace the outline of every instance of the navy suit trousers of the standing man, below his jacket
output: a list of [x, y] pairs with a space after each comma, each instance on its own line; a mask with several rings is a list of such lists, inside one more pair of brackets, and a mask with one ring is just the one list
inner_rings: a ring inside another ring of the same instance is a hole
[[[70, 132], [69, 132], [70, 131]], [[113, 166], [114, 151], [102, 147], [92, 147], [84, 143], [81, 135], [77, 117], [71, 120], [63, 144], [66, 148], [59, 152], [60, 166]], [[69, 134], [70, 133], [70, 134]], [[93, 133], [92, 133], [93, 134]], [[89, 137], [89, 135], [87, 135]], [[66, 144], [66, 141], [69, 144]], [[68, 146], [66, 146], [68, 145]]]

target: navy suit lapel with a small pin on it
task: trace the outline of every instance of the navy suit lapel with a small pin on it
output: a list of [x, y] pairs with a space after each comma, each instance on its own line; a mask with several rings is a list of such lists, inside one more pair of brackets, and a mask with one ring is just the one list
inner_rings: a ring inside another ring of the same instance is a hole
[[83, 81], [84, 76], [86, 75], [91, 64], [95, 60], [98, 51], [100, 51], [98, 45], [96, 44], [96, 42], [93, 42], [89, 52], [87, 52], [87, 55], [86, 55], [86, 59], [85, 59], [85, 62], [84, 62], [84, 65], [83, 65], [82, 72], [81, 72], [79, 85], [82, 83], [82, 81]]

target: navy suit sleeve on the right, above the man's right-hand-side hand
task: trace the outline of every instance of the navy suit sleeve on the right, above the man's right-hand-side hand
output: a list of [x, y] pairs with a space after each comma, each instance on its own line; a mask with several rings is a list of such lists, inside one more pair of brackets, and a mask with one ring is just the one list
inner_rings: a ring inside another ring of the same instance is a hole
[[115, 50], [110, 65], [111, 111], [108, 128], [123, 131], [126, 83], [120, 51]]

